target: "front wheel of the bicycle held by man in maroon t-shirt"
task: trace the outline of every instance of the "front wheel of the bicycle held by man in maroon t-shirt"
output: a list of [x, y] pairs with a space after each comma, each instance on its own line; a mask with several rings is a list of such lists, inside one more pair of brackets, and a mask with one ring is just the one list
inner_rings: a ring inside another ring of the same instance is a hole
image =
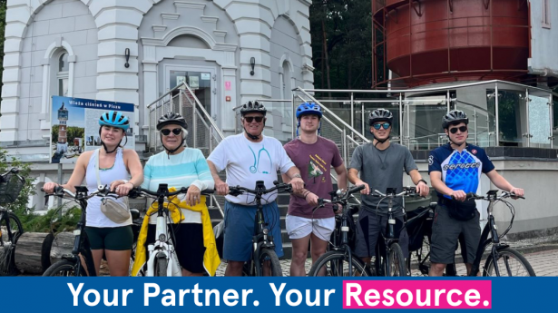
[[344, 252], [329, 251], [316, 260], [308, 276], [367, 277], [369, 275], [365, 265], [357, 257], [351, 256], [349, 266], [348, 256]]

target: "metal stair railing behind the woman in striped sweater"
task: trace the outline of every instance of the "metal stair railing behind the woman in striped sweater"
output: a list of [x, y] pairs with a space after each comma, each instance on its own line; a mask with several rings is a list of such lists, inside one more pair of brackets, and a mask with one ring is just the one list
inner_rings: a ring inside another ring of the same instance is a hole
[[[149, 110], [148, 148], [151, 153], [163, 150], [161, 137], [157, 131], [157, 121], [167, 112], [178, 112], [189, 124], [191, 133], [186, 137], [186, 145], [200, 149], [207, 158], [213, 149], [225, 136], [220, 131], [217, 123], [213, 121], [210, 113], [200, 102], [196, 94], [191, 90], [188, 83], [181, 83], [164, 93], [154, 102], [147, 105]], [[221, 216], [224, 212], [220, 201], [215, 195], [210, 196], [210, 206], [220, 210]]]

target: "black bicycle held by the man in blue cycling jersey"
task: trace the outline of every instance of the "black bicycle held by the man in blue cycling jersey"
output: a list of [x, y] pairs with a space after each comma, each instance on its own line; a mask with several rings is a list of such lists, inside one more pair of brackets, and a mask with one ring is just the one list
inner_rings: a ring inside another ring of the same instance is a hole
[[[474, 200], [483, 200], [488, 201], [488, 222], [485, 225], [485, 229], [481, 234], [481, 240], [479, 241], [478, 249], [476, 249], [476, 257], [475, 262], [471, 267], [471, 272], [469, 276], [476, 276], [479, 271], [481, 259], [483, 258], [483, 254], [485, 249], [492, 243], [492, 249], [488, 259], [485, 261], [485, 266], [483, 268], [483, 276], [525, 276], [524, 274], [528, 274], [526, 276], [536, 276], [534, 273], [531, 264], [529, 261], [524, 258], [524, 256], [519, 253], [517, 250], [510, 248], [509, 245], [506, 245], [500, 241], [502, 237], [504, 237], [508, 231], [512, 229], [514, 225], [514, 218], [515, 218], [515, 209], [514, 206], [504, 199], [509, 197], [521, 198], [525, 199], [524, 197], [515, 196], [514, 193], [510, 192], [503, 192], [502, 196], [498, 196], [498, 191], [488, 191], [486, 196], [479, 196], [474, 193], [468, 193], [467, 199], [474, 199]], [[494, 204], [497, 201], [501, 201], [505, 204], [505, 206], [510, 210], [512, 213], [512, 220], [510, 220], [510, 225], [502, 234], [498, 235], [498, 230], [496, 228], [494, 222]], [[488, 235], [491, 236], [488, 239]], [[517, 262], [521, 266], [521, 268], [517, 270], [512, 270], [511, 265], [512, 262]], [[504, 271], [501, 269], [505, 269]], [[519, 273], [519, 270], [522, 270], [522, 275], [515, 275]]]

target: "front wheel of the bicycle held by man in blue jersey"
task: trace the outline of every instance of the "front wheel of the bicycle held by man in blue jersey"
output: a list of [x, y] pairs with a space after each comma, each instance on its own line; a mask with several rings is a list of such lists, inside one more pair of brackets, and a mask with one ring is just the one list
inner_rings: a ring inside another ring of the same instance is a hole
[[[498, 250], [498, 259], [496, 262], [498, 264], [500, 276], [536, 276], [529, 261], [514, 249], [504, 248]], [[486, 259], [483, 276], [498, 276], [494, 269], [494, 258], [492, 254]]]

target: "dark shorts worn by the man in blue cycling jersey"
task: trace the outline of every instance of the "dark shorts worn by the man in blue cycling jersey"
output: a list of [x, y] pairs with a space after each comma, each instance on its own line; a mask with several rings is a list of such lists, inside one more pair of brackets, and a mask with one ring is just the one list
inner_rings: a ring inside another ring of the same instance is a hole
[[479, 219], [478, 210], [474, 219], [452, 219], [447, 208], [438, 204], [432, 225], [432, 244], [430, 245], [430, 259], [432, 262], [454, 263], [455, 249], [457, 249], [457, 241], [461, 235], [461, 255], [465, 263], [472, 264], [475, 261], [476, 249], [478, 249], [478, 243], [481, 240]]

